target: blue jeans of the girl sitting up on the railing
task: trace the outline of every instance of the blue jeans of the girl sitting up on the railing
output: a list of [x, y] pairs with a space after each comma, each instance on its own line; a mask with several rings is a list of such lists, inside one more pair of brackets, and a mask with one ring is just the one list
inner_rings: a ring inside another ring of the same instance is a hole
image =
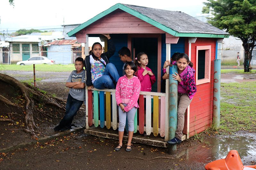
[[96, 89], [114, 89], [116, 88], [114, 83], [116, 84], [118, 79], [119, 75], [115, 65], [108, 63], [104, 74], [93, 82], [93, 87]]

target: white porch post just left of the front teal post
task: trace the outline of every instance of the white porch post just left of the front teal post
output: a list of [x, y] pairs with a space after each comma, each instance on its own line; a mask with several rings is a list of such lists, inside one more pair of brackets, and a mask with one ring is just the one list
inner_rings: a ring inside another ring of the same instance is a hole
[[[166, 44], [166, 60], [171, 61], [171, 44]], [[169, 74], [169, 66], [166, 67], [166, 74]], [[166, 79], [165, 83], [165, 136], [164, 141], [168, 141], [169, 139], [169, 79]]]

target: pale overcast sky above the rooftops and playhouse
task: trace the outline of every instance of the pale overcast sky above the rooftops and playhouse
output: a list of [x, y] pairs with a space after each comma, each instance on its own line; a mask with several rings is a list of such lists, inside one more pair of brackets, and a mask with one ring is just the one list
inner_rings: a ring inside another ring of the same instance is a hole
[[170, 11], [182, 11], [196, 17], [206, 0], [1, 0], [0, 32], [19, 29], [57, 28], [64, 24], [82, 24], [117, 4], [132, 4]]

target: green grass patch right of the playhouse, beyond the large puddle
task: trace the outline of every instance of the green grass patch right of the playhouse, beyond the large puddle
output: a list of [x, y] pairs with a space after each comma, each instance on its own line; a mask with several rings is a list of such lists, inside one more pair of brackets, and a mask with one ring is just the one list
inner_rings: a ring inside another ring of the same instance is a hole
[[256, 130], [256, 82], [221, 83], [220, 131]]

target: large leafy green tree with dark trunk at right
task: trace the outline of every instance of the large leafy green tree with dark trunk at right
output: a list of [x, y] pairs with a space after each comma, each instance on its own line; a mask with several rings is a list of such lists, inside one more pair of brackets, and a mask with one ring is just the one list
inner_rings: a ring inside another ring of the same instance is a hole
[[208, 23], [241, 39], [244, 47], [244, 72], [249, 72], [252, 49], [256, 46], [255, 0], [207, 0], [206, 9], [212, 9], [213, 18]]

